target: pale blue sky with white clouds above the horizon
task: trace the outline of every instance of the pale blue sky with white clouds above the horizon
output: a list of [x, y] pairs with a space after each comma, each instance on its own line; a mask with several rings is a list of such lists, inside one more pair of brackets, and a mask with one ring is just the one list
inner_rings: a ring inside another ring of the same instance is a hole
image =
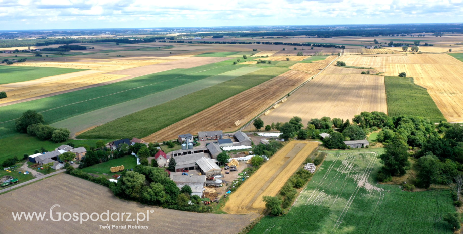
[[463, 22], [463, 0], [0, 0], [0, 30]]

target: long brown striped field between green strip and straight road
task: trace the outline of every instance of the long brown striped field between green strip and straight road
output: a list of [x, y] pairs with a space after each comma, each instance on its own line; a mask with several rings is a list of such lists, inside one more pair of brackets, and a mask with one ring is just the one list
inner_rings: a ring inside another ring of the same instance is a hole
[[[300, 71], [285, 72], [143, 139], [160, 142], [175, 139], [178, 132], [195, 134], [213, 129], [235, 131], [311, 77], [312, 75]], [[242, 124], [235, 126], [237, 120]]]

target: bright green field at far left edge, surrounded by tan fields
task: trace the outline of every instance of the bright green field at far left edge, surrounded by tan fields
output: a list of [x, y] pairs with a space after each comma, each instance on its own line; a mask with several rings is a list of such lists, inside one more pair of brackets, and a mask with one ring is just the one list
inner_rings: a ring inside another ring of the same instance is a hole
[[77, 71], [83, 70], [52, 67], [0, 66], [0, 85], [14, 82], [30, 81], [43, 77], [72, 73]]

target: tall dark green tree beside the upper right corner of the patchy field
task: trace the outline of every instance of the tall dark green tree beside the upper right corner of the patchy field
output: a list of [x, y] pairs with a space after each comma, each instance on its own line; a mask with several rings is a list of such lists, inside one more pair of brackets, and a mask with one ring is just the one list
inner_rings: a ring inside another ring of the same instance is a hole
[[404, 175], [410, 168], [407, 143], [396, 133], [391, 142], [387, 143], [384, 148], [385, 152], [379, 156], [381, 162], [384, 164], [384, 170], [389, 172], [391, 176]]

